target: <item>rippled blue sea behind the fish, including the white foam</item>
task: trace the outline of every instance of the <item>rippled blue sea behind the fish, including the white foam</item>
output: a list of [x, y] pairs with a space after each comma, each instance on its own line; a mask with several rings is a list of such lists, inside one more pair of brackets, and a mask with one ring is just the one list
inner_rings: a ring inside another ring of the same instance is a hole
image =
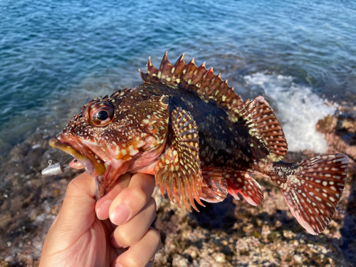
[[291, 150], [325, 150], [315, 123], [356, 103], [356, 1], [0, 1], [0, 155], [66, 125], [91, 98], [159, 65], [206, 61], [263, 95]]

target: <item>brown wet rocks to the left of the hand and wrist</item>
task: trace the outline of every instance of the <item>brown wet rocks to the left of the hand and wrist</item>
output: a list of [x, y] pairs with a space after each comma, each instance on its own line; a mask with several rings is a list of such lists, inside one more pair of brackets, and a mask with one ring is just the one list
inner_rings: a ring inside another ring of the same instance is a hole
[[44, 238], [58, 214], [67, 184], [80, 173], [68, 170], [61, 177], [42, 177], [41, 169], [48, 161], [44, 155], [61, 159], [61, 153], [47, 142], [48, 137], [43, 139], [41, 134], [29, 135], [1, 162], [0, 266], [38, 266]]

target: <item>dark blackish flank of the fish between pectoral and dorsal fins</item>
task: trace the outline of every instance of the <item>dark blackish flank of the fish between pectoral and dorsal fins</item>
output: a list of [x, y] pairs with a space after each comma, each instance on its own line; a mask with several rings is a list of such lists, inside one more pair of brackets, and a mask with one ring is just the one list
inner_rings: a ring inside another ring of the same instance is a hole
[[[245, 126], [244, 120], [231, 122], [226, 110], [214, 102], [205, 103], [197, 93], [150, 83], [144, 83], [135, 88], [147, 92], [147, 96], [142, 99], [148, 99], [152, 95], [168, 95], [169, 113], [178, 107], [190, 112], [198, 126], [201, 169], [231, 167], [248, 171], [248, 169], [253, 169], [253, 164], [256, 162], [250, 159], [261, 159], [268, 155], [261, 141], [248, 135], [248, 127]], [[137, 90], [132, 91], [131, 94], [137, 95]], [[128, 96], [127, 99], [130, 100]], [[238, 136], [238, 140], [231, 138], [233, 136]], [[261, 145], [261, 149], [251, 150], [249, 148], [251, 143], [256, 147]]]

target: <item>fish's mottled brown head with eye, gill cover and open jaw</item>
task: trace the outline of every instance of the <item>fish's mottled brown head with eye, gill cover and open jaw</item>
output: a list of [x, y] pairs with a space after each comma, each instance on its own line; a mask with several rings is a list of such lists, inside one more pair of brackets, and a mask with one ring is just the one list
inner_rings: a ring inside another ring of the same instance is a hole
[[[138, 90], [138, 89], [137, 89]], [[167, 140], [168, 97], [140, 97], [134, 88], [95, 98], [49, 141], [73, 156], [70, 166], [95, 177], [97, 198], [120, 175], [147, 167]]]

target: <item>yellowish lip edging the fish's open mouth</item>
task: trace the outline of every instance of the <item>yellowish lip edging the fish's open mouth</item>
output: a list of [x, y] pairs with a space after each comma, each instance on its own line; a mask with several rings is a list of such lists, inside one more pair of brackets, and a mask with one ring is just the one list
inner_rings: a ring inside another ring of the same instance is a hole
[[57, 148], [58, 150], [62, 150], [67, 154], [75, 157], [84, 167], [85, 172], [87, 172], [91, 176], [98, 176], [98, 174], [102, 173], [102, 170], [95, 169], [95, 164], [88, 157], [91, 152], [92, 155], [95, 155], [91, 150], [78, 142], [75, 137], [63, 137], [63, 135], [57, 135], [49, 140], [48, 145], [51, 147]]

